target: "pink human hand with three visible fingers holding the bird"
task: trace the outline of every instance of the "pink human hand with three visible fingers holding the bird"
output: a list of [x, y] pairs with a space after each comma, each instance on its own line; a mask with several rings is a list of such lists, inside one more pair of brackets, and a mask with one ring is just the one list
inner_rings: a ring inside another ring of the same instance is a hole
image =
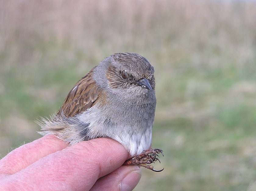
[[140, 180], [137, 166], [119, 142], [97, 138], [67, 147], [47, 135], [16, 148], [0, 160], [3, 190], [132, 190]]

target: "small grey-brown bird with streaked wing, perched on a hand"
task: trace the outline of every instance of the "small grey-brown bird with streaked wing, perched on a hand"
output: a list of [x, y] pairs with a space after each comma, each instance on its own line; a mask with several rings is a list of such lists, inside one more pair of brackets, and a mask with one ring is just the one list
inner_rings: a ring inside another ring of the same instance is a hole
[[149, 165], [159, 161], [157, 153], [163, 155], [161, 149], [150, 148], [156, 106], [154, 71], [136, 53], [105, 58], [76, 83], [56, 115], [38, 122], [39, 133], [54, 134], [70, 145], [109, 137], [136, 155], [124, 165], [162, 171]]

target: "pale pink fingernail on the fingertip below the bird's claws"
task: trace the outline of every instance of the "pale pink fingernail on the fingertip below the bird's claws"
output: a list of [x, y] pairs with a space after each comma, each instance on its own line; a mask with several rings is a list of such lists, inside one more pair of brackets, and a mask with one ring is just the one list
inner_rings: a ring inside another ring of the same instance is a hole
[[132, 171], [121, 181], [121, 191], [131, 191], [140, 181], [141, 171]]

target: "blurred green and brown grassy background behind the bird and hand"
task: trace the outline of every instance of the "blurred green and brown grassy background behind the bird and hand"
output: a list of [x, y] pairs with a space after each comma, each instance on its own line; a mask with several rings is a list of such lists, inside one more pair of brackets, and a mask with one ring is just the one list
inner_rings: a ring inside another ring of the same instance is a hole
[[256, 190], [256, 2], [0, 0], [0, 153], [40, 138], [92, 67], [136, 52], [155, 67], [160, 173], [134, 190]]

